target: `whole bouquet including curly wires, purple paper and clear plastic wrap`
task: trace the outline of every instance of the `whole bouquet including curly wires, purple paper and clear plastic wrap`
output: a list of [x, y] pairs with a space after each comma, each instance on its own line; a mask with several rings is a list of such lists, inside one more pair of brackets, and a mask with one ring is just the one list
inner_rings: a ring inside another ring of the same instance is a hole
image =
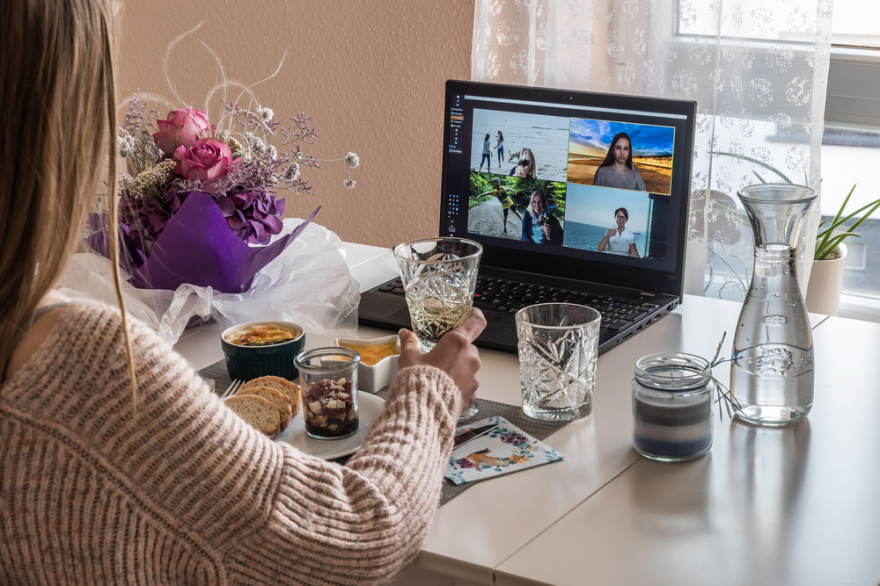
[[[198, 28], [168, 46], [166, 72], [174, 47]], [[203, 110], [180, 98], [167, 73], [173, 100], [140, 92], [128, 99], [117, 153], [126, 172], [118, 193], [106, 196], [120, 223], [108, 226], [106, 211], [90, 215], [85, 243], [99, 254], [74, 255], [60, 284], [66, 294], [115, 302], [109, 228], [120, 233], [127, 311], [169, 344], [196, 324], [282, 320], [310, 331], [353, 331], [359, 285], [342, 241], [310, 224], [318, 210], [306, 221], [282, 220], [279, 194], [313, 193], [304, 176], [333, 162], [348, 171], [345, 187], [354, 187], [359, 160], [354, 153], [333, 160], [307, 154], [318, 139], [311, 119], [276, 117], [260, 105], [253, 88], [283, 63], [245, 85], [227, 79], [217, 59], [221, 81]]]

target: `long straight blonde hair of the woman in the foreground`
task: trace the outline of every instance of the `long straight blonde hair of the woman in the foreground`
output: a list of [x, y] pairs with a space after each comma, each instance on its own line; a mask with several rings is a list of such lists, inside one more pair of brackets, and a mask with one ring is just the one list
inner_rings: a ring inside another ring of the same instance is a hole
[[[40, 300], [82, 240], [105, 156], [109, 226], [116, 214], [112, 0], [5, 0], [0, 9], [0, 374]], [[118, 269], [110, 260], [134, 361]]]

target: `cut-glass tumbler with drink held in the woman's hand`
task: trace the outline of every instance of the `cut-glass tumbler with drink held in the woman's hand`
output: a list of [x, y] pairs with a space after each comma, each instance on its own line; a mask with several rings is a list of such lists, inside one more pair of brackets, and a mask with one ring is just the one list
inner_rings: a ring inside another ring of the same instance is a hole
[[[425, 351], [471, 315], [483, 247], [462, 238], [423, 238], [394, 248], [413, 332]], [[474, 405], [461, 420], [477, 413]]]

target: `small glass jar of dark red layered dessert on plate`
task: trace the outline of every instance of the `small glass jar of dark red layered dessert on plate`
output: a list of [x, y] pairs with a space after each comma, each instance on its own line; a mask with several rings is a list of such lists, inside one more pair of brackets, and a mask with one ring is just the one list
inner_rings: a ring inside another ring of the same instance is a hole
[[354, 435], [360, 418], [357, 366], [361, 355], [351, 348], [315, 348], [297, 355], [306, 433], [315, 439]]

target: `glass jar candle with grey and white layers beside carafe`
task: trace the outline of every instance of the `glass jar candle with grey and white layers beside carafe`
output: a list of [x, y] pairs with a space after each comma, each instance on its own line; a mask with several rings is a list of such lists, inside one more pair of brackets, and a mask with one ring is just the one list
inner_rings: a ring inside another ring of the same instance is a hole
[[636, 362], [632, 389], [639, 454], [683, 462], [709, 451], [715, 382], [707, 360], [678, 352], [644, 356]]

